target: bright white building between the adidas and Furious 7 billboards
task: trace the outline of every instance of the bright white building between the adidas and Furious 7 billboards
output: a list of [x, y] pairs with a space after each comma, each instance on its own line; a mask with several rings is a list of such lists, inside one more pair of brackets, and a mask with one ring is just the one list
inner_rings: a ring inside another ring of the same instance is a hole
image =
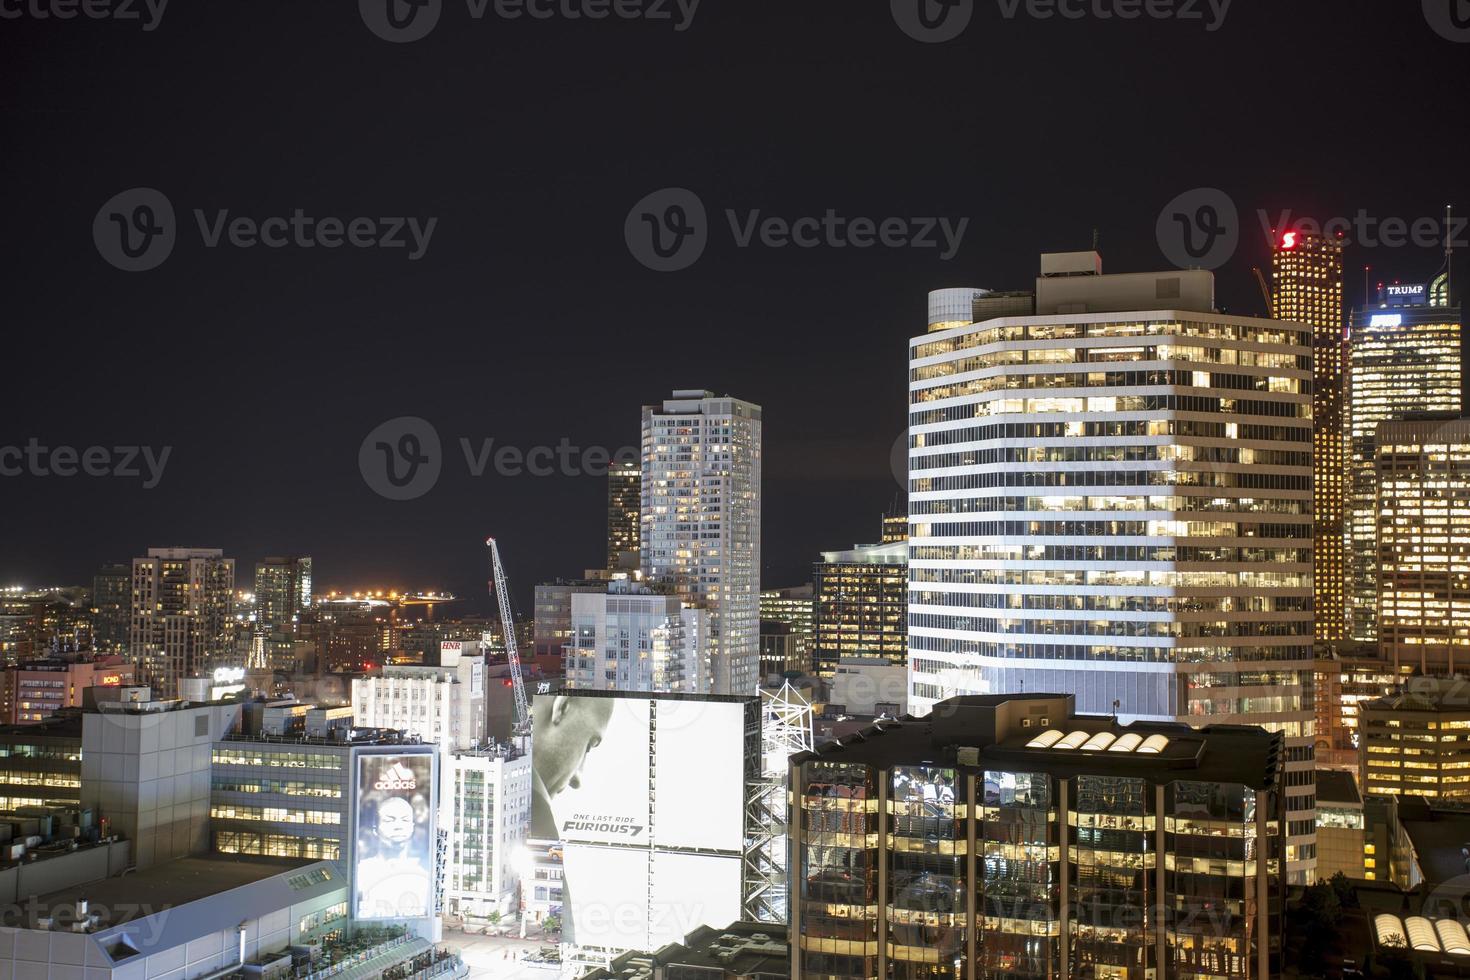
[[462, 918], [509, 914], [516, 860], [531, 824], [531, 755], [512, 746], [450, 758], [454, 833], [448, 839], [445, 911]]

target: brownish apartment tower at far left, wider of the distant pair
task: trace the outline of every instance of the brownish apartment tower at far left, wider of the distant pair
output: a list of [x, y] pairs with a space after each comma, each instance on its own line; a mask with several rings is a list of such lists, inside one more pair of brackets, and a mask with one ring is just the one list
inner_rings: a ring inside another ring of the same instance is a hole
[[132, 560], [128, 652], [165, 698], [182, 677], [244, 667], [232, 648], [235, 560], [215, 548], [150, 548]]

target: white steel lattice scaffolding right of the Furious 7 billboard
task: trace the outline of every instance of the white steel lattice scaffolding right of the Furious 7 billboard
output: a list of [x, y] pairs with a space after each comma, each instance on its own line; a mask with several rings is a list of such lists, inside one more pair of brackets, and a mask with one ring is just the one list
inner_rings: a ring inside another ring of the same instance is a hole
[[785, 682], [781, 691], [760, 692], [760, 777], [747, 793], [745, 917], [761, 923], [786, 921], [786, 786], [792, 755], [810, 752], [811, 702]]

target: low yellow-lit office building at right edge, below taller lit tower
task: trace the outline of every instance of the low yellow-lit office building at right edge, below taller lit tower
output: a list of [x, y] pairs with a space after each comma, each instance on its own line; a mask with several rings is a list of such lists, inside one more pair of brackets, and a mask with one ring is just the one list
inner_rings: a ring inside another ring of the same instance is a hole
[[1411, 677], [1361, 702], [1358, 726], [1366, 795], [1470, 801], [1470, 680]]

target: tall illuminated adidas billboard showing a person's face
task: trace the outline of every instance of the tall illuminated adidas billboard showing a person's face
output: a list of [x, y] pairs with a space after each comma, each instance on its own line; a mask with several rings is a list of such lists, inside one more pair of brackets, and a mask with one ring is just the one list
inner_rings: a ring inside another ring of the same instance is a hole
[[434, 911], [434, 755], [357, 757], [356, 918], [423, 918]]

